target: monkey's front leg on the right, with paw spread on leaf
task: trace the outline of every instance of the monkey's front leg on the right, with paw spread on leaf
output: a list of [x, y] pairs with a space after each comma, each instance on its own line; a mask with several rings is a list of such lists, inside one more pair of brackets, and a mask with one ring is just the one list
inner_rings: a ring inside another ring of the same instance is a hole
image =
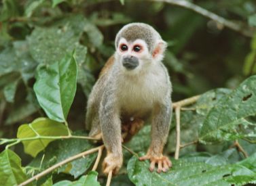
[[151, 145], [147, 154], [139, 158], [139, 160], [150, 160], [150, 171], [154, 170], [155, 164], [158, 164], [158, 173], [166, 172], [172, 166], [168, 157], [162, 154], [168, 137], [171, 112], [170, 101], [166, 101], [165, 104], [156, 107], [153, 111]]

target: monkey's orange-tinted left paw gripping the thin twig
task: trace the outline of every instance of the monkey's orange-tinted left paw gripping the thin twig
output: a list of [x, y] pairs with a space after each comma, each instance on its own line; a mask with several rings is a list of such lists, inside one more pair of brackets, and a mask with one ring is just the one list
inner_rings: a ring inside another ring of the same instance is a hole
[[116, 156], [113, 153], [107, 155], [103, 161], [103, 172], [107, 175], [112, 170], [113, 175], [116, 175], [123, 164], [123, 157]]

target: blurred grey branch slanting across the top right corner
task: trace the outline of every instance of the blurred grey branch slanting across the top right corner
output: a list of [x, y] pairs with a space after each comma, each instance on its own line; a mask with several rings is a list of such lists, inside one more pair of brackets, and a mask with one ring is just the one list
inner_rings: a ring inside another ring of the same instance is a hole
[[194, 3], [191, 3], [189, 1], [185, 0], [151, 0], [151, 1], [158, 1], [158, 2], [165, 2], [172, 5], [178, 5], [180, 7], [185, 7], [187, 9], [191, 9], [192, 11], [195, 11], [198, 14], [201, 14], [202, 16], [209, 18], [211, 20], [214, 20], [215, 22], [226, 26], [227, 28], [230, 28], [232, 30], [235, 30], [236, 32], [240, 32], [246, 37], [253, 37], [253, 34], [255, 32], [255, 29], [246, 26], [244, 28], [244, 25], [238, 24], [237, 22], [232, 22], [230, 20], [226, 20], [225, 18], [222, 18], [221, 16], [218, 16], [217, 14], [214, 14], [211, 11], [208, 11], [207, 9], [204, 9], [198, 5], [195, 5]]

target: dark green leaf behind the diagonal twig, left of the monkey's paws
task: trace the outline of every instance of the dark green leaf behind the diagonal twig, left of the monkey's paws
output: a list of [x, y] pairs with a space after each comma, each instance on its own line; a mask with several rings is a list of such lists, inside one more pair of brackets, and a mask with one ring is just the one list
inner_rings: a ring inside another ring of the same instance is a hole
[[[75, 132], [73, 135], [86, 136], [88, 134]], [[45, 169], [58, 162], [66, 160], [71, 156], [75, 156], [76, 154], [84, 152], [88, 149], [92, 149], [93, 147], [96, 146], [85, 139], [65, 139], [52, 141], [52, 143], [46, 147], [44, 152], [37, 155], [37, 157], [31, 162], [30, 166]], [[84, 172], [90, 168], [90, 166], [94, 163], [96, 156], [97, 153], [94, 153], [89, 154], [84, 158], [74, 160], [61, 168], [58, 168], [58, 172], [69, 173], [77, 178], [80, 175], [83, 175]]]

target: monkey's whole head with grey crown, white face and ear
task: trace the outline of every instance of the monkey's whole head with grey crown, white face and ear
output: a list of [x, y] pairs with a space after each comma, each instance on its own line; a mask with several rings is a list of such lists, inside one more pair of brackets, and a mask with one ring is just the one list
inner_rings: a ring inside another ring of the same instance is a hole
[[126, 24], [115, 37], [115, 59], [124, 70], [140, 71], [162, 61], [166, 42], [148, 24]]

